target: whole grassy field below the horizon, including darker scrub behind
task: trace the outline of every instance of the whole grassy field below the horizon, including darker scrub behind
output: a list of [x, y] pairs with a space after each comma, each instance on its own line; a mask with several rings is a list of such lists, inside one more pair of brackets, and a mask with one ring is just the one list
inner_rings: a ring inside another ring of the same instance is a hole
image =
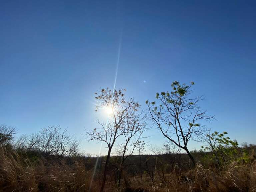
[[[120, 187], [116, 184], [119, 157], [111, 157], [105, 191], [255, 192], [255, 149], [244, 148], [247, 159], [237, 158], [221, 171], [211, 160], [211, 154], [202, 151], [193, 152], [195, 167], [186, 154], [133, 155], [122, 172]], [[33, 151], [1, 147], [0, 191], [96, 192], [100, 190], [105, 158], [99, 158], [95, 167], [96, 160], [82, 155], [45, 157]]]

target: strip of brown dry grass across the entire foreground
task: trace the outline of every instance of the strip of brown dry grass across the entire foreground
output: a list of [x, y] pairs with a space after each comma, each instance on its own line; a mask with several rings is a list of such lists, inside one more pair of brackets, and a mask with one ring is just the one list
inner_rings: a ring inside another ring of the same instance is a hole
[[[89, 191], [93, 174], [92, 167], [77, 158], [33, 162], [15, 151], [0, 148], [0, 191], [1, 192], [85, 192]], [[91, 192], [99, 191], [101, 173], [92, 182]], [[154, 184], [149, 176], [125, 174], [126, 182], [120, 191], [137, 192], [256, 192], [256, 160], [252, 163], [233, 162], [227, 171], [218, 173], [197, 163], [192, 170], [180, 172], [175, 166], [172, 173], [165, 174], [166, 183], [160, 174], [155, 174]], [[129, 186], [128, 184], [129, 183]], [[118, 191], [111, 174], [107, 177], [106, 191]]]

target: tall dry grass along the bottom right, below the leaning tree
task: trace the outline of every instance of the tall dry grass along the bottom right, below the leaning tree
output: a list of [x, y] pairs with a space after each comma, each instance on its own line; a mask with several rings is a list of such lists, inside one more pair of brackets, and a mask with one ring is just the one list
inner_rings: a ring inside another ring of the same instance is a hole
[[[174, 170], [175, 171], [175, 170]], [[155, 192], [256, 192], [256, 160], [252, 164], [234, 162], [229, 170], [218, 173], [217, 170], [203, 168], [197, 163], [195, 169], [181, 174], [167, 174], [166, 186], [155, 179], [144, 178], [142, 186], [134, 182], [127, 191]]]

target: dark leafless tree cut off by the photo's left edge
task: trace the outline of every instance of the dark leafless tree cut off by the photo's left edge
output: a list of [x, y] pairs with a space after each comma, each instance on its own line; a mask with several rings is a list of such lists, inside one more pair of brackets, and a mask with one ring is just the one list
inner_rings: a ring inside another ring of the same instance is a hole
[[12, 126], [0, 125], [0, 146], [11, 143], [16, 134], [16, 128]]

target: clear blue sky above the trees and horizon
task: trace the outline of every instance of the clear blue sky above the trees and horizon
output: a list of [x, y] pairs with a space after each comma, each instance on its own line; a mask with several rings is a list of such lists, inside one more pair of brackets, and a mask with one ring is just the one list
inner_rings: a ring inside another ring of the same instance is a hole
[[117, 88], [144, 107], [172, 81], [194, 81], [218, 120], [209, 127], [256, 143], [255, 10], [255, 1], [1, 1], [0, 123], [79, 137], [94, 128], [94, 92], [113, 87], [121, 43]]

